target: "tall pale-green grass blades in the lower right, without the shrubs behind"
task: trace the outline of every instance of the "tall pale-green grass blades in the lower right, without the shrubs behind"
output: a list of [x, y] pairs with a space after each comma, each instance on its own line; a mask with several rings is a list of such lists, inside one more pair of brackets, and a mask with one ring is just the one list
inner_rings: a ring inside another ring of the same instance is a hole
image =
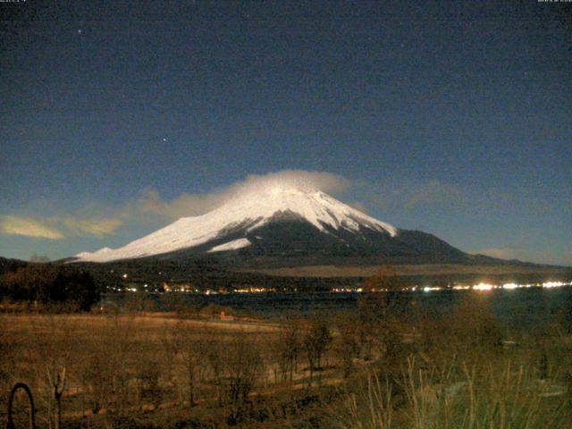
[[[570, 427], [568, 398], [551, 381], [507, 361], [436, 377], [408, 360], [400, 392], [369, 374], [344, 395], [332, 425], [360, 429], [544, 429]], [[398, 389], [399, 391], [399, 389]]]

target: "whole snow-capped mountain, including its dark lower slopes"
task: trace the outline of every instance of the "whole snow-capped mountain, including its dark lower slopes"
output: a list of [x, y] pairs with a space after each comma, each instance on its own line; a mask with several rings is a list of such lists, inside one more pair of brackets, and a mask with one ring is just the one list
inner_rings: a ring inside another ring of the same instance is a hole
[[431, 234], [396, 228], [313, 187], [273, 182], [243, 190], [209, 213], [183, 217], [122, 248], [82, 252], [71, 261], [206, 257], [312, 265], [355, 264], [363, 258], [408, 264], [471, 258]]

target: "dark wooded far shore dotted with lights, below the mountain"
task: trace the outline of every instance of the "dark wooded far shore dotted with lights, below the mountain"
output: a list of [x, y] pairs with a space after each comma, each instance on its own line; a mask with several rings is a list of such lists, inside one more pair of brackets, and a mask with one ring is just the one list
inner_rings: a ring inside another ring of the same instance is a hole
[[[164, 290], [164, 285], [189, 285], [198, 290], [235, 290], [245, 287], [265, 288], [276, 291], [328, 291], [334, 288], [359, 288], [369, 282], [366, 276], [361, 277], [290, 277], [266, 275], [265, 273], [233, 271], [231, 265], [221, 265], [212, 260], [164, 260], [164, 259], [131, 259], [105, 264], [74, 263], [62, 265], [66, 269], [75, 268], [93, 276], [97, 284], [103, 285], [104, 291], [114, 291], [125, 287], [141, 289], [147, 284], [147, 290]], [[18, 268], [29, 265], [25, 261], [4, 259], [0, 257], [0, 275], [15, 272]], [[524, 264], [521, 264], [525, 266]], [[295, 265], [292, 265], [295, 266]], [[540, 265], [539, 265], [540, 266]], [[126, 274], [126, 277], [124, 275]], [[374, 276], [375, 277], [375, 276]], [[440, 286], [448, 287], [456, 283], [476, 284], [490, 282], [538, 283], [546, 281], [572, 281], [572, 269], [562, 267], [559, 272], [546, 273], [433, 273], [400, 275], [393, 273], [394, 281], [400, 286]]]

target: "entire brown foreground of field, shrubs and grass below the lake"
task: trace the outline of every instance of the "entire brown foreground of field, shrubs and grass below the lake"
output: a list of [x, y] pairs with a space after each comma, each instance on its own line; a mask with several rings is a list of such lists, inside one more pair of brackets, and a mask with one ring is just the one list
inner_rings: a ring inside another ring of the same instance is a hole
[[0, 421], [23, 382], [38, 427], [565, 428], [569, 322], [509, 331], [472, 294], [447, 315], [383, 294], [281, 324], [0, 315]]

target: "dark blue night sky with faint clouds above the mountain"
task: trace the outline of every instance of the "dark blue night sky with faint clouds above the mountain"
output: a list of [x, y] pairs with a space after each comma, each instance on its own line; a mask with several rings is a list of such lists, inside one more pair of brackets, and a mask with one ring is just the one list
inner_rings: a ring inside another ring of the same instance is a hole
[[294, 170], [463, 250], [572, 265], [571, 10], [2, 3], [0, 256], [120, 246]]

